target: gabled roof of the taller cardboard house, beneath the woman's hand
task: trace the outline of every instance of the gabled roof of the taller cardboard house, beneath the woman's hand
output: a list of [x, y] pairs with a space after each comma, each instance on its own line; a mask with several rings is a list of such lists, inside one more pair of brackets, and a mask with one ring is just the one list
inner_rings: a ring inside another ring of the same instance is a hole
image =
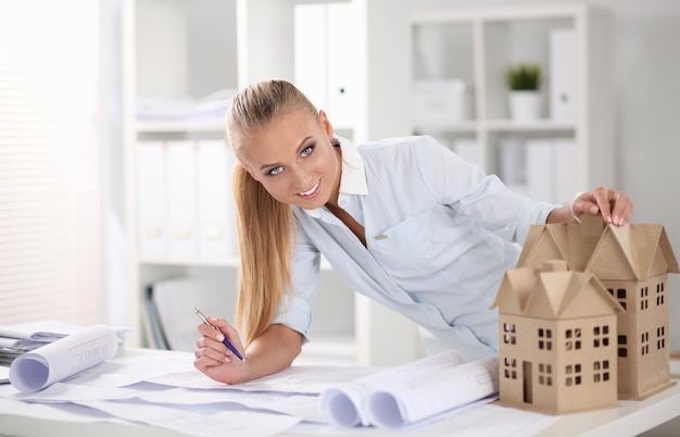
[[680, 273], [663, 225], [605, 226], [601, 216], [591, 215], [581, 224], [532, 226], [517, 266], [537, 269], [544, 260], [564, 260], [569, 270], [592, 272], [601, 280]]

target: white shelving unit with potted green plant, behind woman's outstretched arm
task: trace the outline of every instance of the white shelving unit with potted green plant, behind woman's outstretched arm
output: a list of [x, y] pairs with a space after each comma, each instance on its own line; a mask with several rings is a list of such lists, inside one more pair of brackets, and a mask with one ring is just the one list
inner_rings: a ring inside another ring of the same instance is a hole
[[[607, 11], [538, 2], [418, 10], [412, 25], [414, 102], [426, 105], [414, 117], [417, 133], [441, 139], [539, 200], [567, 202], [577, 191], [615, 183]], [[542, 67], [536, 121], [517, 122], [509, 112], [505, 74], [518, 63]], [[423, 88], [442, 83], [449, 90], [458, 84], [465, 93], [443, 92], [428, 103]], [[437, 113], [437, 104], [451, 108], [446, 98], [470, 97], [470, 116]]]

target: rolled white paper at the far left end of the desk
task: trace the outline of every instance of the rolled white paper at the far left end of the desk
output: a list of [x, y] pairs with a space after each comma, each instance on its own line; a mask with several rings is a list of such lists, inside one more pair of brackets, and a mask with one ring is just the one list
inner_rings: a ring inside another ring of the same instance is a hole
[[37, 391], [110, 359], [117, 346], [113, 328], [92, 326], [18, 357], [10, 382], [21, 391]]

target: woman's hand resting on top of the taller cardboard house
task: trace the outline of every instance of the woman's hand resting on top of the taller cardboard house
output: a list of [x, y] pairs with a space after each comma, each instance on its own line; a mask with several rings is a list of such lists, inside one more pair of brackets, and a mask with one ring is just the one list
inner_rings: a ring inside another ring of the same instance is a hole
[[580, 192], [569, 205], [575, 220], [581, 214], [602, 214], [604, 223], [624, 226], [633, 215], [633, 202], [621, 191], [599, 187]]

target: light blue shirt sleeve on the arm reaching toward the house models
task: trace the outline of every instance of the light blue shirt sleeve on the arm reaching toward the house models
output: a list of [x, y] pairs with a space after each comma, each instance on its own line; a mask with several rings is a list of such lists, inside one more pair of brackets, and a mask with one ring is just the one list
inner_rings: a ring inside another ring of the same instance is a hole
[[431, 137], [423, 137], [414, 150], [420, 177], [436, 199], [461, 220], [505, 240], [524, 244], [531, 225], [544, 224], [558, 207], [509, 190], [498, 176], [484, 174]]

